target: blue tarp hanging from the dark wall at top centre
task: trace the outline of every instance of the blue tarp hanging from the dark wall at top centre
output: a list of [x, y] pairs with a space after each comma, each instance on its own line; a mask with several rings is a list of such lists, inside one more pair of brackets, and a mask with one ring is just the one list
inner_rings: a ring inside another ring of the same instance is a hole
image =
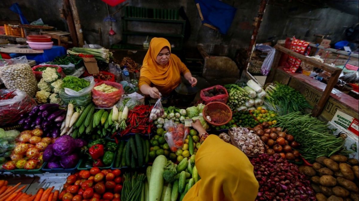
[[218, 0], [195, 1], [200, 4], [204, 18], [202, 22], [215, 26], [222, 34], [227, 34], [237, 9]]

